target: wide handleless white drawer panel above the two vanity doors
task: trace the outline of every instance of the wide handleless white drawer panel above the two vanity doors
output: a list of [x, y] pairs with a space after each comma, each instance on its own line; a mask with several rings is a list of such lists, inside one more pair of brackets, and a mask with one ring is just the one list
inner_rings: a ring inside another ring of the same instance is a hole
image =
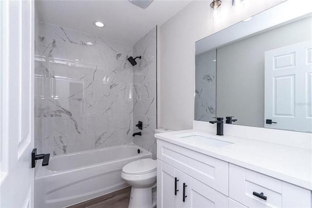
[[159, 140], [157, 158], [222, 194], [229, 195], [229, 163]]

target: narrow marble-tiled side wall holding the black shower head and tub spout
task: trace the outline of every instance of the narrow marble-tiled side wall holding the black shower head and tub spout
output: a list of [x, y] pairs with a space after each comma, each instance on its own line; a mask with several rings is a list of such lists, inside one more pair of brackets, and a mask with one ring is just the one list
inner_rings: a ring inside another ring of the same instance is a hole
[[[152, 153], [156, 159], [156, 27], [137, 41], [133, 47], [133, 57], [141, 56], [134, 66], [134, 132], [142, 132], [142, 136], [135, 136], [137, 146]], [[143, 129], [139, 130], [138, 121], [143, 122]]]

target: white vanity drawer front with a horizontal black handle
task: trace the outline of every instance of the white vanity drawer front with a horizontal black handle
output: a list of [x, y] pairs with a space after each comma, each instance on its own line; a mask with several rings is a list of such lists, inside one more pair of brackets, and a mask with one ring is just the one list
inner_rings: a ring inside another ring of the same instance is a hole
[[310, 190], [233, 164], [229, 197], [249, 208], [311, 207]]

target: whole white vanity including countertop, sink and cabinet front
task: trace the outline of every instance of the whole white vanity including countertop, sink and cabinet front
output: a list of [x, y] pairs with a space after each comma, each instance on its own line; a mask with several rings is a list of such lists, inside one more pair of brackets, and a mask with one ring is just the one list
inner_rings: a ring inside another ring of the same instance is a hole
[[[207, 122], [195, 121], [194, 126], [155, 135], [157, 207], [312, 206], [312, 151], [302, 148], [311, 147], [309, 134], [304, 134], [301, 146], [289, 146], [288, 138], [283, 145], [272, 136], [262, 141], [259, 135], [237, 137], [244, 135], [237, 126], [225, 126], [224, 136], [215, 135], [215, 125]], [[278, 130], [264, 131], [259, 134], [274, 135]]]

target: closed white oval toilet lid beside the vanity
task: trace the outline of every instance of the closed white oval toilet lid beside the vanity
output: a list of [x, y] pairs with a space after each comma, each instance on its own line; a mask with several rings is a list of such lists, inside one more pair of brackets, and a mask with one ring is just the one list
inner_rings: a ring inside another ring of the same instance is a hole
[[122, 172], [129, 175], [144, 174], [156, 171], [157, 162], [151, 158], [133, 161], [123, 166]]

